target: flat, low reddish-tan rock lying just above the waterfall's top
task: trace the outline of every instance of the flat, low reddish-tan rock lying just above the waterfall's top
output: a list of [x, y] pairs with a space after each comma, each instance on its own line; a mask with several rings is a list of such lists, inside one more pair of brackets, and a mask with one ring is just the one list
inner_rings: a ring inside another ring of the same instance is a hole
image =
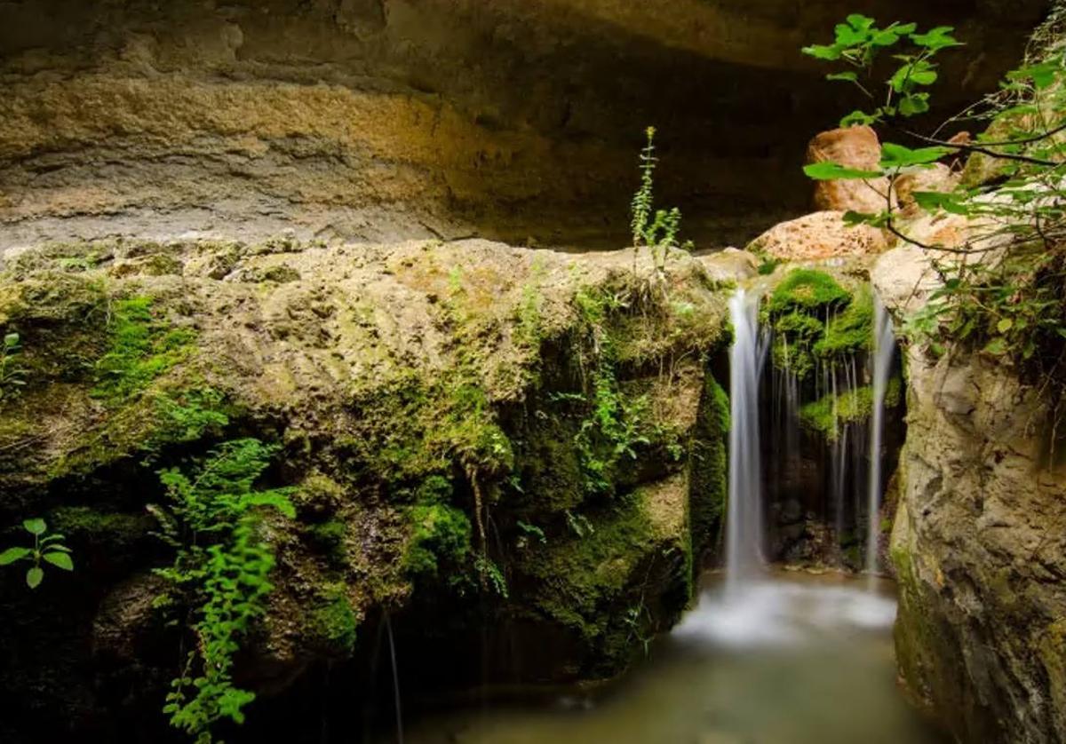
[[784, 261], [877, 254], [887, 247], [882, 232], [869, 225], [850, 227], [842, 212], [815, 212], [775, 225], [748, 249]]

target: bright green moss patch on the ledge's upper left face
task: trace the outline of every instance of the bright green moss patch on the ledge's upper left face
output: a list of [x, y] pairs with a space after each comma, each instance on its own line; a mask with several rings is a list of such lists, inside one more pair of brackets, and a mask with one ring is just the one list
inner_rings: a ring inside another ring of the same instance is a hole
[[195, 331], [168, 327], [154, 312], [152, 304], [151, 297], [143, 295], [113, 303], [109, 347], [96, 362], [96, 398], [123, 403], [189, 357]]

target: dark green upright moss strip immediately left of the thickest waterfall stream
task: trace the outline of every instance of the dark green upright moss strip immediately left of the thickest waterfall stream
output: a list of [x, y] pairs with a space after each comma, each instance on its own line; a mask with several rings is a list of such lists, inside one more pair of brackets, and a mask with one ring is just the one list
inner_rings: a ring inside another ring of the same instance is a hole
[[697, 569], [724, 523], [729, 426], [729, 395], [708, 372], [689, 452], [689, 529]]

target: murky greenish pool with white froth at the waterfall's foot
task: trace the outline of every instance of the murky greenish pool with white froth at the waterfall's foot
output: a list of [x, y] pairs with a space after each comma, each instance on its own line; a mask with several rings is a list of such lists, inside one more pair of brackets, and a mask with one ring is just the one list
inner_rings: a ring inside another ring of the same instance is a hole
[[[891, 586], [711, 580], [648, 658], [596, 693], [407, 722], [406, 744], [942, 744], [895, 685]], [[388, 741], [388, 740], [386, 740]], [[391, 741], [395, 741], [392, 737]]]

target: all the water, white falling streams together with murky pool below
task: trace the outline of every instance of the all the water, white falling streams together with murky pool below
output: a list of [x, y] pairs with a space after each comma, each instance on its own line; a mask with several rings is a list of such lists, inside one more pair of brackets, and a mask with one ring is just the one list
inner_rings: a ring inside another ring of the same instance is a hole
[[[843, 575], [775, 571], [764, 557], [765, 525], [760, 462], [760, 382], [769, 352], [758, 323], [759, 297], [739, 290], [730, 300], [729, 494], [726, 566], [701, 587], [696, 606], [648, 658], [614, 683], [520, 705], [415, 722], [415, 744], [935, 744], [930, 722], [895, 686], [891, 626], [893, 587], [879, 579], [877, 510], [882, 490], [884, 405], [894, 339], [888, 313], [876, 304], [871, 372], [866, 582]], [[855, 359], [823, 373], [819, 394], [857, 390]], [[790, 370], [774, 370], [770, 420], [772, 456], [792, 457], [798, 390]], [[817, 381], [815, 381], [817, 382]], [[837, 411], [834, 408], [836, 419]], [[836, 422], [836, 421], [835, 421]], [[782, 431], [776, 431], [784, 424]], [[857, 424], [855, 424], [857, 426]], [[831, 514], [843, 530], [845, 473], [863, 459], [866, 437], [852, 426], [831, 448]], [[855, 514], [861, 508], [855, 482]], [[828, 515], [827, 515], [828, 516]], [[399, 709], [399, 705], [397, 706]]]

